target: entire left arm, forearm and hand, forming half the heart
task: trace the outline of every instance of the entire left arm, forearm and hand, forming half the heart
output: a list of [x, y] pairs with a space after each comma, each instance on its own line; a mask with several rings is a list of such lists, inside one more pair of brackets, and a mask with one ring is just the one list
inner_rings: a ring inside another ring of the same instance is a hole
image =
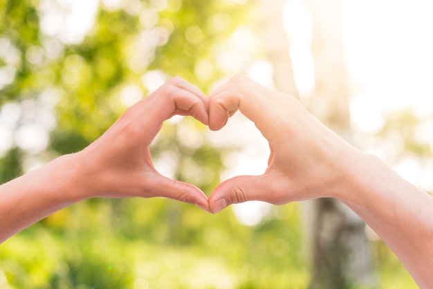
[[86, 149], [0, 186], [0, 243], [86, 198], [174, 198], [208, 209], [200, 189], [158, 174], [149, 145], [164, 120], [192, 115], [208, 124], [208, 99], [178, 77], [131, 106]]

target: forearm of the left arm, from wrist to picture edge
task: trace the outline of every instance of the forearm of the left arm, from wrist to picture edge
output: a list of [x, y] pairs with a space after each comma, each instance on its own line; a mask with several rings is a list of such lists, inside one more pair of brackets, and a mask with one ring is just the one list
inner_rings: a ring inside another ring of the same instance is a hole
[[44, 167], [0, 186], [0, 243], [63, 207], [81, 201], [76, 154], [59, 157]]

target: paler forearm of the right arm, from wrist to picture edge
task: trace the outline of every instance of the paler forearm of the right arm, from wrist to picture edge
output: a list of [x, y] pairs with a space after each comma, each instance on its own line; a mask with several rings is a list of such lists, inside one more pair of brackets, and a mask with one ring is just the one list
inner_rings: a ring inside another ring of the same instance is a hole
[[353, 153], [339, 198], [389, 245], [418, 286], [433, 284], [433, 198], [374, 156]]

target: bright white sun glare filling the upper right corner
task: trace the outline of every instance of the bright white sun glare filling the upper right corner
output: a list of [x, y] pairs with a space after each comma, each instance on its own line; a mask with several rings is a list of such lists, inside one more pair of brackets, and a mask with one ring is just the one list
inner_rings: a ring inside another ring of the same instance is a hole
[[[348, 68], [380, 111], [433, 112], [433, 4], [344, 1]], [[370, 114], [365, 111], [365, 121]]]

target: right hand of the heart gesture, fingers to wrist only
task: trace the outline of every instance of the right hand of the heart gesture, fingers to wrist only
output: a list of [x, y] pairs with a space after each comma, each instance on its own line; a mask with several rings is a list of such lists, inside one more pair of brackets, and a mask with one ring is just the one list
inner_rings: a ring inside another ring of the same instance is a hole
[[237, 110], [255, 122], [268, 140], [268, 168], [261, 176], [237, 176], [221, 183], [209, 198], [211, 212], [232, 203], [291, 201], [335, 196], [347, 162], [335, 162], [353, 151], [324, 127], [295, 97], [271, 91], [238, 75], [210, 95], [209, 127], [221, 129]]

